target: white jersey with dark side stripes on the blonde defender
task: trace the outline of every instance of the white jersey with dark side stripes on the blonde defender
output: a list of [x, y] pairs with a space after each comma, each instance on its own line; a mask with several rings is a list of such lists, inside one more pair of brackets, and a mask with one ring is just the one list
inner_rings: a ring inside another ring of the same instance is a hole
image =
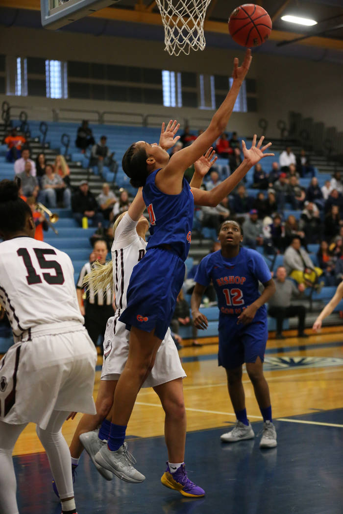
[[147, 243], [137, 234], [137, 223], [127, 213], [120, 220], [114, 234], [111, 252], [116, 315], [127, 307], [126, 293], [132, 270], [146, 251]]

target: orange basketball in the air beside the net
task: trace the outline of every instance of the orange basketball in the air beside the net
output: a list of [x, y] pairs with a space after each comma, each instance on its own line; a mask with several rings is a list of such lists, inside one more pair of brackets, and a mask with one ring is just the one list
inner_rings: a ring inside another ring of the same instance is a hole
[[228, 24], [233, 41], [249, 48], [262, 45], [272, 31], [269, 14], [256, 4], [243, 4], [234, 9]]

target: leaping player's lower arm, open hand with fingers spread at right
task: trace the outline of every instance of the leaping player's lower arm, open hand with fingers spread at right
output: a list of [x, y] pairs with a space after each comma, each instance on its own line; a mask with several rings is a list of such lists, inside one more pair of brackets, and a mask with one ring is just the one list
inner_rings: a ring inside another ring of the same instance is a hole
[[242, 141], [244, 160], [228, 178], [223, 180], [218, 186], [215, 186], [211, 191], [202, 191], [201, 189], [192, 189], [194, 196], [194, 203], [196, 205], [208, 205], [215, 207], [222, 201], [243, 179], [246, 173], [255, 166], [263, 157], [273, 156], [274, 154], [264, 153], [272, 143], [267, 143], [262, 146], [264, 136], [262, 136], [258, 143], [256, 143], [257, 136], [252, 138], [251, 148], [248, 150], [246, 144]]

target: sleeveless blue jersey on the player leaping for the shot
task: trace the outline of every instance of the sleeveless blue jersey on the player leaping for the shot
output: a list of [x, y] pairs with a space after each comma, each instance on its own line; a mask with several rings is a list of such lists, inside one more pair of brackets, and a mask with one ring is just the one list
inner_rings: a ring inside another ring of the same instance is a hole
[[150, 237], [147, 250], [170, 245], [184, 261], [192, 235], [194, 198], [189, 183], [183, 179], [183, 189], [177, 195], [163, 193], [155, 186], [155, 170], [143, 187], [143, 199], [150, 217]]

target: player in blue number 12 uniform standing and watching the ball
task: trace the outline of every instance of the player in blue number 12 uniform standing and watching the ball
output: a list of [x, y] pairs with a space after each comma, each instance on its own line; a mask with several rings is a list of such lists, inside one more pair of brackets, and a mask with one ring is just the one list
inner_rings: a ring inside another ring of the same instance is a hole
[[[274, 295], [274, 280], [262, 256], [255, 250], [241, 247], [243, 233], [237, 222], [224, 222], [218, 238], [221, 250], [207, 255], [198, 266], [191, 307], [195, 326], [205, 329], [207, 318], [200, 313], [199, 307], [203, 293], [212, 281], [220, 310], [218, 362], [226, 370], [229, 395], [237, 417], [233, 430], [221, 435], [221, 440], [234, 443], [255, 437], [245, 409], [242, 384], [242, 364], [245, 362], [264, 421], [260, 447], [274, 448], [276, 431], [268, 384], [263, 376], [268, 338], [264, 304]], [[264, 286], [261, 295], [259, 282]]]

